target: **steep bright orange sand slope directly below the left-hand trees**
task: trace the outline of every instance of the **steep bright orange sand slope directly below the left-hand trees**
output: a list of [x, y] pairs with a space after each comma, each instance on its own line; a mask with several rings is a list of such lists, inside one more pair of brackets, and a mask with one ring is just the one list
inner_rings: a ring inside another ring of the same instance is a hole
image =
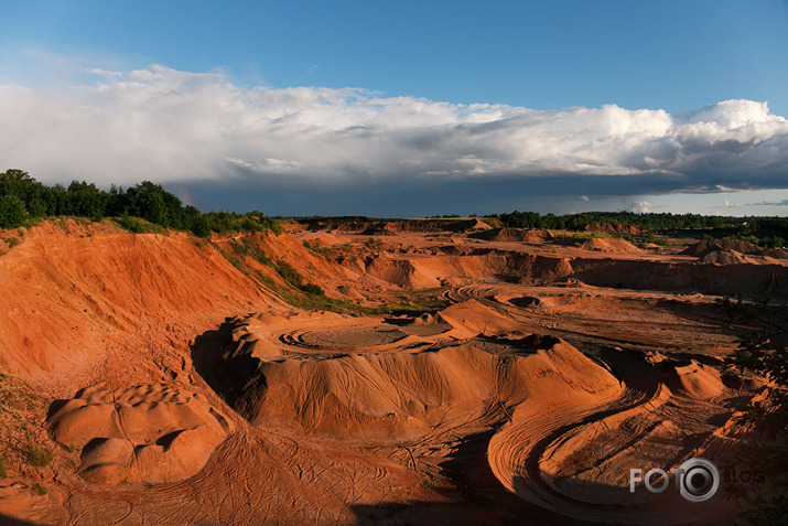
[[170, 337], [187, 339], [184, 328], [202, 330], [228, 311], [272, 302], [194, 236], [133, 235], [71, 219], [65, 228], [47, 222], [28, 230], [0, 258], [0, 367], [64, 388], [100, 376], [108, 359], [128, 363], [145, 335], [161, 346], [168, 328]]

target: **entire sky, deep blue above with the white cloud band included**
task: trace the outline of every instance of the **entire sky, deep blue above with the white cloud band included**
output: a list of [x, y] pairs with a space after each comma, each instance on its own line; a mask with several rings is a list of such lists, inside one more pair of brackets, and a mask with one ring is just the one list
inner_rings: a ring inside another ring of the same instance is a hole
[[786, 1], [7, 0], [0, 20], [0, 165], [47, 182], [277, 214], [788, 212], [759, 204], [788, 197]]

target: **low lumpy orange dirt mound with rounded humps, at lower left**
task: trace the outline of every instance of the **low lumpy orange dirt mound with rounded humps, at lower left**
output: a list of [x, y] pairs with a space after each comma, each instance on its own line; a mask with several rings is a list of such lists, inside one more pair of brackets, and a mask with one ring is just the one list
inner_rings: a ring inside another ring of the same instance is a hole
[[101, 484], [186, 479], [231, 430], [203, 395], [165, 385], [90, 387], [53, 409], [52, 437], [82, 450], [79, 474]]

